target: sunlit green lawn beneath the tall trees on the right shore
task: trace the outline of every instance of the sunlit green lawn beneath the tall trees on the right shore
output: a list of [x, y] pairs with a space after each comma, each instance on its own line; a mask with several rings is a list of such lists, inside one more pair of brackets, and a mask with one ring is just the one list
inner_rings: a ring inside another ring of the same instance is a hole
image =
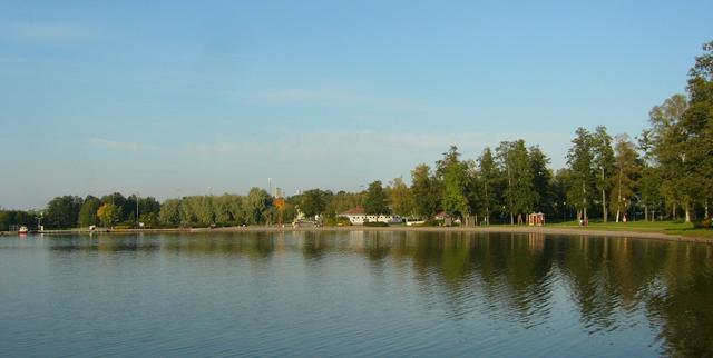
[[713, 229], [695, 229], [693, 223], [673, 221], [629, 221], [629, 222], [589, 222], [584, 228], [578, 221], [558, 222], [548, 225], [553, 228], [582, 229], [582, 230], [612, 230], [612, 231], [638, 231], [638, 232], [662, 232], [670, 235], [694, 236], [713, 239]]

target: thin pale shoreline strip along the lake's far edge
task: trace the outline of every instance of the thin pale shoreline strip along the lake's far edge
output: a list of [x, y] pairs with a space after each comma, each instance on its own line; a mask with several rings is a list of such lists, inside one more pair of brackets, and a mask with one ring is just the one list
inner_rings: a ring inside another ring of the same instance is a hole
[[[557, 227], [514, 227], [514, 226], [490, 226], [490, 227], [292, 227], [285, 225], [277, 226], [251, 226], [251, 227], [226, 227], [226, 228], [194, 228], [194, 229], [121, 229], [121, 230], [97, 230], [86, 229], [49, 230], [37, 235], [124, 235], [124, 233], [206, 233], [206, 232], [330, 232], [330, 231], [377, 231], [377, 232], [498, 232], [498, 233], [540, 233], [540, 235], [575, 235], [575, 236], [598, 236], [598, 237], [625, 237], [636, 239], [652, 239], [666, 241], [684, 241], [713, 245], [713, 239], [704, 237], [671, 235], [663, 232], [641, 232], [626, 230], [597, 230], [588, 228], [557, 228]], [[17, 232], [3, 231], [0, 236], [18, 236]]]

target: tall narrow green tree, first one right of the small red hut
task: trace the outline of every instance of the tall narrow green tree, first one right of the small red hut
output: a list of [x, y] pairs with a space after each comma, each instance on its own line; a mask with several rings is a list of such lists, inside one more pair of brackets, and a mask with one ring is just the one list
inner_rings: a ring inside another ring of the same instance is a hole
[[589, 220], [587, 209], [592, 203], [594, 192], [594, 173], [592, 152], [592, 133], [588, 130], [577, 128], [573, 147], [567, 152], [567, 165], [569, 166], [569, 190], [567, 201], [577, 208], [577, 219]]

